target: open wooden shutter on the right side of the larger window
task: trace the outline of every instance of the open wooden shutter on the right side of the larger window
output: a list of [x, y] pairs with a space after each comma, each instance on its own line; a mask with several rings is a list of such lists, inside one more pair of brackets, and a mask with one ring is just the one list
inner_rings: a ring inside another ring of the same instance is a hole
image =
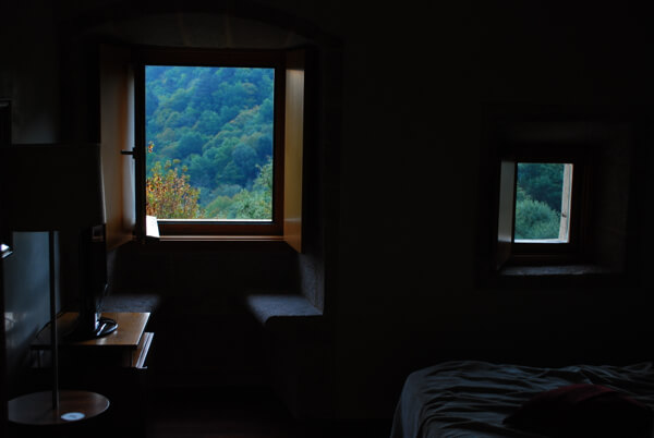
[[289, 53], [286, 72], [283, 236], [302, 252], [302, 159], [304, 147], [304, 53]]

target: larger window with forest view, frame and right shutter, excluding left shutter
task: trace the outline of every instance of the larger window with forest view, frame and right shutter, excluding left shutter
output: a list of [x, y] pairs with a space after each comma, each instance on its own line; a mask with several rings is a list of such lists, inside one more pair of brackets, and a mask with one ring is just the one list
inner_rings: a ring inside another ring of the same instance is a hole
[[136, 228], [300, 251], [305, 52], [136, 51]]

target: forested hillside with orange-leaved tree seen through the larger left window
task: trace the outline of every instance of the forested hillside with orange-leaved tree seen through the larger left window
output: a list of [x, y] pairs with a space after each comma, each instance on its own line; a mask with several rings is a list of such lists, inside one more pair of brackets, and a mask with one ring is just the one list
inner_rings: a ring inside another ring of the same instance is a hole
[[275, 69], [146, 65], [146, 214], [271, 220]]

